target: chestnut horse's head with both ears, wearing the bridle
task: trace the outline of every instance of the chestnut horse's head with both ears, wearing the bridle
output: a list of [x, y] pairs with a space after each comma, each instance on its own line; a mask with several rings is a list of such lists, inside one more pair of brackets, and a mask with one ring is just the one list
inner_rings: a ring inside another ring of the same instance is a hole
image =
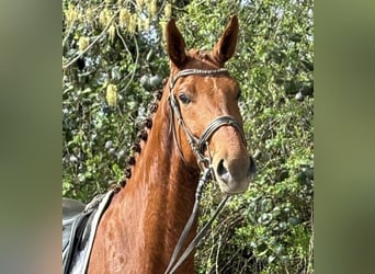
[[190, 167], [207, 167], [223, 193], [243, 193], [255, 171], [247, 151], [239, 84], [224, 68], [235, 54], [239, 32], [232, 16], [211, 52], [185, 50], [172, 19], [167, 24], [169, 100], [179, 152]]

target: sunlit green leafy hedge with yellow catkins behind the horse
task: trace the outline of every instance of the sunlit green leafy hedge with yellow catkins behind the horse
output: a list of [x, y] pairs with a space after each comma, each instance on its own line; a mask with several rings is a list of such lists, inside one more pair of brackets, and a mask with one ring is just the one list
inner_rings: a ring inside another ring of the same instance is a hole
[[[84, 202], [123, 176], [152, 90], [168, 76], [170, 16], [188, 48], [240, 21], [228, 62], [258, 174], [196, 253], [197, 273], [312, 273], [312, 1], [63, 1], [63, 195]], [[219, 198], [205, 193], [202, 222]]]

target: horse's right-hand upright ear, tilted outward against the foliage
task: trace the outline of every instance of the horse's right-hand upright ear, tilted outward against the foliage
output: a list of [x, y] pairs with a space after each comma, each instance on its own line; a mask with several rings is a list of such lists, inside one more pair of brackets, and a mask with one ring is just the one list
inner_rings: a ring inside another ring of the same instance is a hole
[[234, 56], [237, 45], [238, 31], [238, 19], [237, 15], [234, 15], [225, 28], [224, 34], [213, 49], [214, 58], [220, 64], [226, 62], [230, 59], [230, 57]]

